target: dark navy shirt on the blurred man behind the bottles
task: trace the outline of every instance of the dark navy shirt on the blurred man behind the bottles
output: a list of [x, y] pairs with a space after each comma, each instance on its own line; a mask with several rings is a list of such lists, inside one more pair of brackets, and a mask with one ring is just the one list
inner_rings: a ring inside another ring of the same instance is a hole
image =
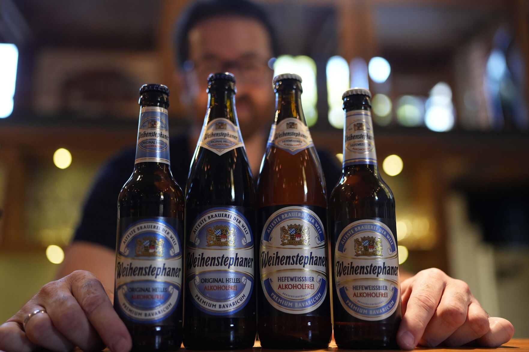
[[[169, 143], [171, 172], [184, 191], [191, 163], [188, 136], [176, 136], [171, 138]], [[334, 155], [325, 150], [317, 152], [329, 196], [340, 179], [341, 169]], [[116, 248], [117, 196], [134, 170], [134, 159], [135, 149], [128, 149], [104, 166], [86, 200], [74, 240], [101, 244], [112, 250]]]

